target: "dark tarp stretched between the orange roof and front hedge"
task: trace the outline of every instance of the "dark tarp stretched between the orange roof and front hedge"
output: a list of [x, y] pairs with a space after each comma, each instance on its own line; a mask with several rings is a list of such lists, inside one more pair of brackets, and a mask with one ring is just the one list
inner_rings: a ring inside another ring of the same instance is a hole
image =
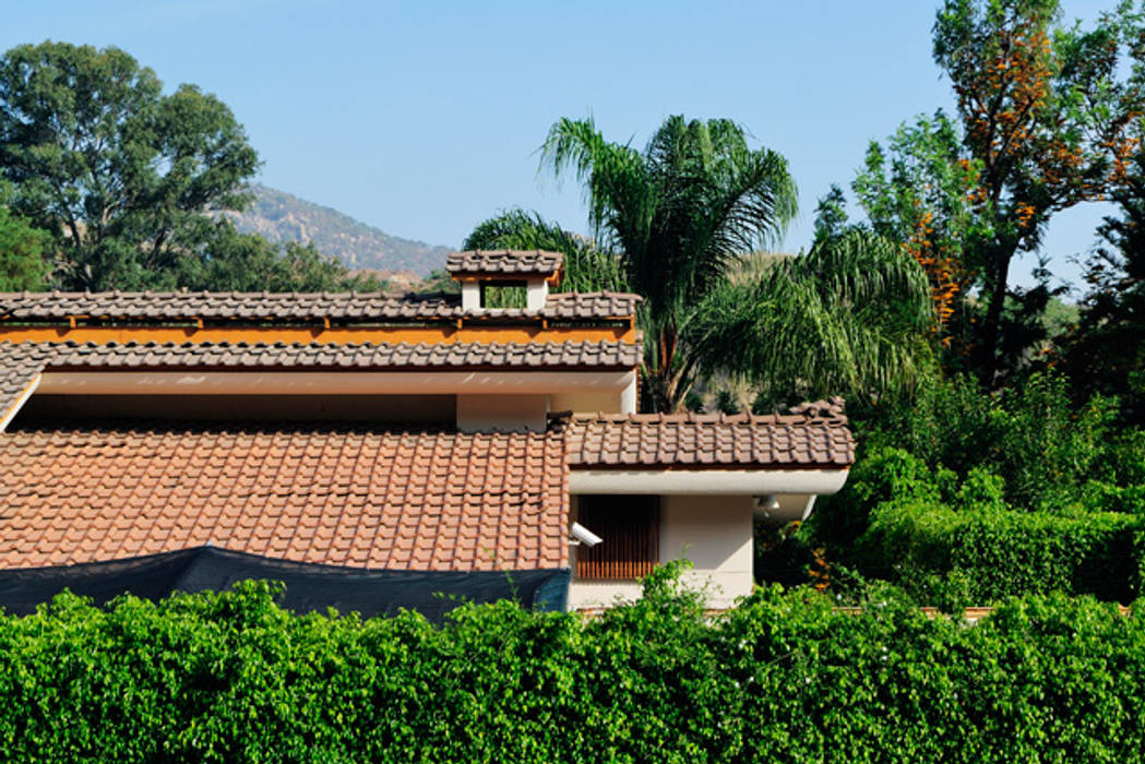
[[363, 617], [417, 611], [434, 623], [465, 601], [514, 599], [538, 611], [563, 611], [569, 570], [432, 572], [368, 570], [277, 560], [198, 546], [179, 552], [42, 568], [0, 570], [0, 606], [27, 615], [64, 589], [96, 605], [125, 592], [159, 600], [175, 591], [226, 591], [238, 581], [282, 581], [282, 607], [295, 613], [357, 612]]

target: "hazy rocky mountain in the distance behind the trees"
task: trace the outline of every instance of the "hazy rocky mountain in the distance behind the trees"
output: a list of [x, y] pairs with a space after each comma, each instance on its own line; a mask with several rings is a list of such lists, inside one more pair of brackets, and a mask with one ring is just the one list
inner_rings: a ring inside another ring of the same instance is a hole
[[382, 275], [412, 271], [419, 277], [441, 268], [450, 249], [398, 238], [337, 210], [254, 183], [254, 204], [246, 212], [227, 213], [245, 234], [260, 234], [271, 242], [314, 242], [318, 251], [340, 260], [352, 270]]

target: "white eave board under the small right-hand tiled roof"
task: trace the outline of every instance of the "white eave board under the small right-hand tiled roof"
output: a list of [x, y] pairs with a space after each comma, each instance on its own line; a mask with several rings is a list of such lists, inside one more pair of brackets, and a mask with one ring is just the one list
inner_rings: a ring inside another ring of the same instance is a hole
[[846, 481], [846, 470], [574, 470], [569, 493], [826, 496]]

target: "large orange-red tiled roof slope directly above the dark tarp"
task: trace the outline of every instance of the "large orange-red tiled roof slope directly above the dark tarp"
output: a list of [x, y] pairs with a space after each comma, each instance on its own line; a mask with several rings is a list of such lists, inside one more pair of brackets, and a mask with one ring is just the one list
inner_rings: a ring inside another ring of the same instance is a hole
[[0, 435], [0, 567], [208, 543], [370, 568], [568, 566], [560, 426], [30, 427]]

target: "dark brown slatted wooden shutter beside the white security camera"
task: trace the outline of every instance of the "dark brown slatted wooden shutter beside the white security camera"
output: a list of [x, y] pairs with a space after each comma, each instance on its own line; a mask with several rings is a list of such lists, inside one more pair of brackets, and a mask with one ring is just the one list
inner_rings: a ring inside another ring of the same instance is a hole
[[660, 561], [660, 503], [656, 496], [581, 496], [579, 522], [605, 541], [581, 544], [581, 578], [638, 578]]

